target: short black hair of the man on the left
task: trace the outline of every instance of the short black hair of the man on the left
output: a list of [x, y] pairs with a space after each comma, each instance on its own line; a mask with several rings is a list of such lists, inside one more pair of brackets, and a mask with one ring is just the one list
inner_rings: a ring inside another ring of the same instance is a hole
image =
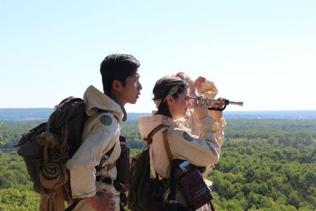
[[109, 93], [114, 80], [119, 80], [125, 86], [126, 78], [135, 74], [139, 66], [139, 61], [130, 54], [111, 54], [105, 57], [100, 64], [103, 91]]

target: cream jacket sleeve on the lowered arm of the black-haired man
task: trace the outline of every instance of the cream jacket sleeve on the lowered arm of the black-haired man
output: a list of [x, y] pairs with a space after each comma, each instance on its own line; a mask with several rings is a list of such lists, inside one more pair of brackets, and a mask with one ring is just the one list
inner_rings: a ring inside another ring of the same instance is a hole
[[[73, 198], [84, 198], [96, 195], [96, 165], [104, 153], [114, 145], [114, 137], [119, 132], [119, 125], [113, 115], [110, 125], [101, 122], [104, 115], [99, 115], [91, 132], [86, 136], [83, 143], [74, 153], [74, 156], [67, 161], [66, 167], [70, 170], [70, 185]], [[107, 124], [108, 124], [107, 122]]]

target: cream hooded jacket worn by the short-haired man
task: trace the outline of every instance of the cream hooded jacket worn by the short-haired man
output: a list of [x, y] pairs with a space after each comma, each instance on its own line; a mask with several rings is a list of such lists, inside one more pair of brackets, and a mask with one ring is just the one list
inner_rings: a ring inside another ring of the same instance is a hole
[[104, 175], [117, 178], [116, 167], [107, 170], [103, 168], [96, 172], [96, 166], [105, 157], [105, 153], [114, 146], [114, 151], [103, 166], [112, 164], [119, 158], [120, 124], [124, 112], [118, 103], [93, 86], [84, 93], [86, 114], [88, 119], [84, 125], [83, 143], [74, 156], [67, 161], [66, 167], [70, 170], [70, 184], [73, 198], [84, 198], [96, 195], [96, 176]]

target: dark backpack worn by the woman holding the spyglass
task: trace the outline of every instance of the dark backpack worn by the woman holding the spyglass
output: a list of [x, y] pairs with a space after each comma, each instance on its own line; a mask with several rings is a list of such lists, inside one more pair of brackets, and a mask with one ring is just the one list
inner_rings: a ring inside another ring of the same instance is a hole
[[[159, 180], [158, 177], [150, 177], [150, 153], [149, 148], [152, 143], [152, 136], [156, 134], [160, 129], [164, 127], [169, 127], [165, 124], [160, 124], [158, 127], [152, 130], [148, 134], [147, 148], [131, 158], [130, 167], [130, 186], [129, 195], [127, 196], [127, 205], [132, 211], [147, 211], [150, 210], [152, 203], [157, 204], [162, 202], [162, 188], [164, 186], [164, 181]], [[164, 210], [159, 209], [158, 210]]]

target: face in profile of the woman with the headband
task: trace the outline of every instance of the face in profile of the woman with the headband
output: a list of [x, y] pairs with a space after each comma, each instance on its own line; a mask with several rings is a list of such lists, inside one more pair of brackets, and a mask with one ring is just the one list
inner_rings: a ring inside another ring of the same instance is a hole
[[187, 109], [192, 105], [190, 101], [189, 89], [185, 89], [183, 93], [178, 94], [178, 98], [173, 98], [173, 104], [170, 108], [172, 119], [185, 117]]

